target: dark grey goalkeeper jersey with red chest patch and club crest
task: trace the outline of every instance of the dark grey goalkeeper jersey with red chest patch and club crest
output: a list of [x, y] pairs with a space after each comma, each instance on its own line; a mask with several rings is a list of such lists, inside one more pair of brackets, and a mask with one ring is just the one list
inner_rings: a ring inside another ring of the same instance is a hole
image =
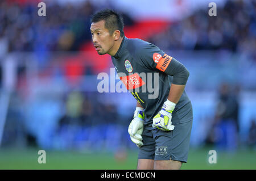
[[[183, 64], [141, 39], [124, 37], [112, 62], [123, 85], [143, 106], [146, 125], [152, 124], [153, 117], [167, 100], [171, 83], [185, 85], [189, 76]], [[172, 124], [192, 118], [191, 101], [184, 91], [172, 112]]]

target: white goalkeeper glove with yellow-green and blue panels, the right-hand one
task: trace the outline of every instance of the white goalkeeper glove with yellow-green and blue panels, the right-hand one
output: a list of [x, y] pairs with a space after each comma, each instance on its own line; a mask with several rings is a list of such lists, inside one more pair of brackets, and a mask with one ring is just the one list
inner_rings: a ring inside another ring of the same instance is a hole
[[170, 100], [164, 102], [162, 109], [153, 118], [152, 127], [158, 128], [162, 131], [172, 131], [174, 130], [174, 125], [172, 125], [172, 111], [174, 111], [176, 104]]

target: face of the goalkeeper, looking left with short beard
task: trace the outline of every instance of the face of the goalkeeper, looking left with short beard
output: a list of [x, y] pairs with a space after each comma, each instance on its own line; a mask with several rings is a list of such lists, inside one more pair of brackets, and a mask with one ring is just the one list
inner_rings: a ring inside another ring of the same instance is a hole
[[100, 22], [92, 23], [90, 32], [92, 33], [93, 45], [98, 54], [109, 53], [114, 46], [114, 37], [105, 28], [105, 21], [101, 20]]

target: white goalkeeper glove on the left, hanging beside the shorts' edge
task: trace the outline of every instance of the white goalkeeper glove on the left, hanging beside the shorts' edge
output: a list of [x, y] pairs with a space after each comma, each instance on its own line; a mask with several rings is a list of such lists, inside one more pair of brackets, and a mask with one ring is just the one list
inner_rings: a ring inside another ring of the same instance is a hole
[[133, 141], [139, 148], [143, 145], [141, 134], [144, 128], [144, 120], [145, 115], [143, 108], [136, 107], [133, 120], [131, 121], [128, 128], [128, 133], [130, 134], [131, 141]]

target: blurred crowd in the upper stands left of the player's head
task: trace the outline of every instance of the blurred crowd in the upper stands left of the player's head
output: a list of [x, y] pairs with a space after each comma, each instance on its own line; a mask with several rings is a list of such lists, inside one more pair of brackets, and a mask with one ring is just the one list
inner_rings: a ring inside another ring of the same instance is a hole
[[[38, 9], [35, 3], [0, 1], [0, 44], [5, 51], [80, 50], [91, 41], [90, 15], [96, 8], [90, 1], [47, 3], [44, 17], [38, 16]], [[129, 16], [123, 16], [126, 24], [132, 23]]]

